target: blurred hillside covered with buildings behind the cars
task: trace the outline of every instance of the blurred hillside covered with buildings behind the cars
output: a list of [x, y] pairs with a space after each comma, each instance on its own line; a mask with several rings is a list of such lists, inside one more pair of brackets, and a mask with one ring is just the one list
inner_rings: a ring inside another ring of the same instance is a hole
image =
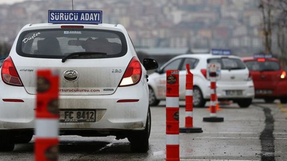
[[[74, 8], [103, 10], [104, 23], [123, 24], [142, 51], [228, 48], [248, 56], [263, 48], [256, 0], [74, 0]], [[46, 23], [48, 9], [71, 9], [71, 1], [0, 5], [0, 41], [13, 43], [27, 23]]]

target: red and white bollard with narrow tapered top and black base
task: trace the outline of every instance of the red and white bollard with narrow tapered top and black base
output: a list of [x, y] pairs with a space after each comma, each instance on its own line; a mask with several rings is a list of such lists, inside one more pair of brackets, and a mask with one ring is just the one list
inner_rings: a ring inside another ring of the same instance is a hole
[[179, 128], [180, 133], [200, 133], [201, 127], [193, 127], [193, 74], [190, 72], [189, 64], [186, 64], [185, 85], [185, 127]]

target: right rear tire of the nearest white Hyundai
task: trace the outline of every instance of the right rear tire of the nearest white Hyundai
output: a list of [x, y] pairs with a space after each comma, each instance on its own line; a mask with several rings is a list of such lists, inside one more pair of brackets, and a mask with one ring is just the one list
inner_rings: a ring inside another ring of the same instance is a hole
[[144, 131], [137, 131], [133, 133], [133, 135], [129, 138], [129, 142], [131, 142], [131, 151], [146, 153], [149, 150], [149, 142], [150, 138], [150, 129], [151, 129], [151, 115], [150, 108], [148, 108], [148, 116], [146, 121], [146, 128]]

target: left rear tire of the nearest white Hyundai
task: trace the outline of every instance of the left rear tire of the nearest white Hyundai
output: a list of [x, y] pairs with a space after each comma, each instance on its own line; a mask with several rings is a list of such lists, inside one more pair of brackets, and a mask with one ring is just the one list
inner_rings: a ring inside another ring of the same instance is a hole
[[0, 131], [0, 152], [10, 152], [14, 150], [14, 137], [10, 131]]

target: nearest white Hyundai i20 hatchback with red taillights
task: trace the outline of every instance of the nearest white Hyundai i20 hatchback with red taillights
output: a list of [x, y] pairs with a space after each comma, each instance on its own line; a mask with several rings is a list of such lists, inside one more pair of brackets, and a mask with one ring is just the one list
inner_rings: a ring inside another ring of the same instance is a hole
[[[131, 150], [147, 152], [151, 115], [146, 70], [157, 67], [152, 59], [140, 63], [123, 25], [24, 26], [1, 67], [0, 151], [30, 142], [36, 71], [48, 68], [60, 72], [60, 135], [128, 138]], [[77, 118], [76, 113], [85, 111], [90, 116]]]

